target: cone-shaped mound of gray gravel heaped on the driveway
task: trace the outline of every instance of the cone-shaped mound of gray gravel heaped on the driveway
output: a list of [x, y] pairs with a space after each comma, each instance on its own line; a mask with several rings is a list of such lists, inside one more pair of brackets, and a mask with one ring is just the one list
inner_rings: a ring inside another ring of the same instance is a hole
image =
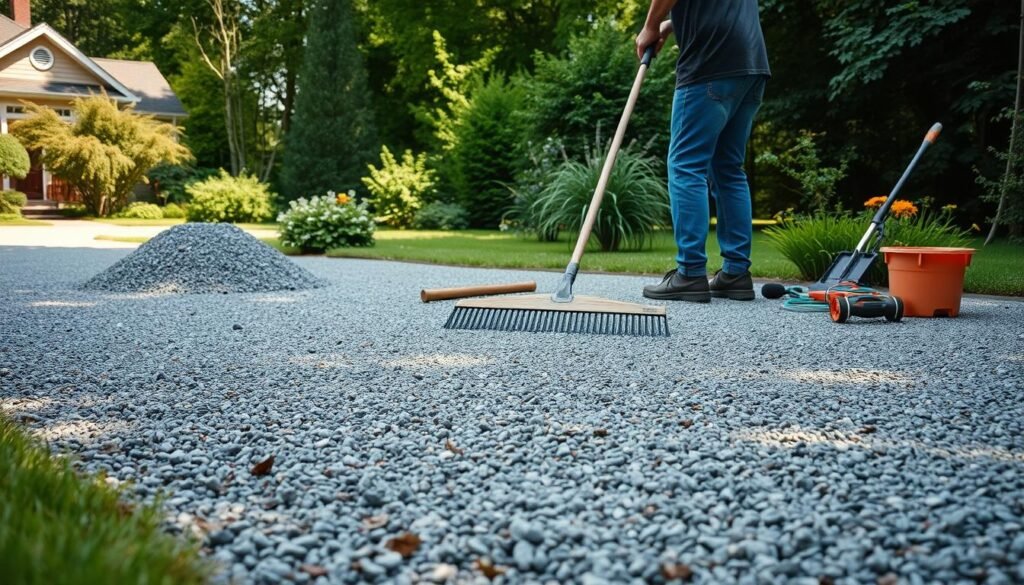
[[324, 281], [234, 225], [185, 223], [162, 232], [82, 289], [232, 293], [321, 286]]

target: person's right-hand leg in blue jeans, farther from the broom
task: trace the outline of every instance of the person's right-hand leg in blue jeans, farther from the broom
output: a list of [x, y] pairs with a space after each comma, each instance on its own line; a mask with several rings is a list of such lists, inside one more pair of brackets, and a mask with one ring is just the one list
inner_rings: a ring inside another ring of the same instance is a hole
[[765, 87], [764, 77], [741, 79], [746, 90], [736, 96], [732, 116], [719, 135], [711, 162], [722, 271], [732, 276], [744, 275], [751, 267], [753, 203], [743, 163], [754, 116], [761, 107]]

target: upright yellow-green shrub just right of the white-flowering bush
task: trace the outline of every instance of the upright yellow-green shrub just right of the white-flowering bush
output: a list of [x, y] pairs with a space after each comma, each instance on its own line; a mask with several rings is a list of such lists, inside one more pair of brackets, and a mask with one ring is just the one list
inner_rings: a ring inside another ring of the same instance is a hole
[[395, 160], [387, 147], [381, 149], [381, 167], [369, 165], [370, 176], [362, 182], [372, 195], [370, 205], [377, 221], [392, 227], [409, 227], [423, 199], [434, 191], [434, 173], [427, 168], [427, 156], [414, 156], [406, 151], [401, 162]]

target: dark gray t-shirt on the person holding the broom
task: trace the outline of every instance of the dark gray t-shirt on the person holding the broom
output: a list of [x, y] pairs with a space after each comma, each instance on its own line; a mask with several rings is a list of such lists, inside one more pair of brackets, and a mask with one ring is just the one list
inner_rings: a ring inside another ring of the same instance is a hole
[[678, 0], [676, 86], [723, 77], [771, 75], [758, 0]]

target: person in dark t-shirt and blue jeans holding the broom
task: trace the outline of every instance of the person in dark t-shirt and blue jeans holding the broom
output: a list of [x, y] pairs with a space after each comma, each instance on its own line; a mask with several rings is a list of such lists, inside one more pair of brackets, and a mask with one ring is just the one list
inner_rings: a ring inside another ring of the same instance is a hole
[[[666, 17], [671, 13], [671, 20]], [[669, 145], [669, 198], [677, 267], [643, 295], [710, 302], [754, 299], [753, 212], [743, 170], [746, 141], [771, 76], [757, 0], [652, 0], [636, 38], [638, 58], [679, 45]], [[709, 185], [718, 215], [722, 269], [708, 282]]]

